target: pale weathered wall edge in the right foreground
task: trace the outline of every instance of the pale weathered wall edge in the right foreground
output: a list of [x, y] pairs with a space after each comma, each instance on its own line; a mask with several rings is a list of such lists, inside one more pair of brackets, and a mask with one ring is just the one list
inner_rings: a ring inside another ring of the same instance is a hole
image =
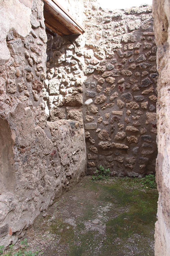
[[158, 221], [155, 224], [155, 256], [168, 256], [170, 252], [170, 1], [154, 0], [154, 34], [156, 38], [158, 102], [158, 157], [156, 164], [156, 182], [159, 190]]

